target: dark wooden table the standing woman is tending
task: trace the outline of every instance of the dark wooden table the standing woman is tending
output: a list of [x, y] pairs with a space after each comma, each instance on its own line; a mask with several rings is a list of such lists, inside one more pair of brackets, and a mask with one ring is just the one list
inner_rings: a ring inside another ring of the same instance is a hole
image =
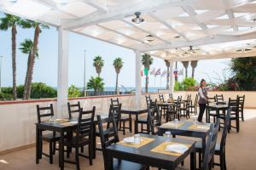
[[206, 111], [206, 122], [210, 122], [210, 116], [209, 116], [209, 111], [216, 111], [216, 116], [218, 118], [219, 116], [219, 111], [227, 111], [229, 109], [229, 105], [227, 102], [213, 102], [209, 103], [207, 105], [207, 111]]

